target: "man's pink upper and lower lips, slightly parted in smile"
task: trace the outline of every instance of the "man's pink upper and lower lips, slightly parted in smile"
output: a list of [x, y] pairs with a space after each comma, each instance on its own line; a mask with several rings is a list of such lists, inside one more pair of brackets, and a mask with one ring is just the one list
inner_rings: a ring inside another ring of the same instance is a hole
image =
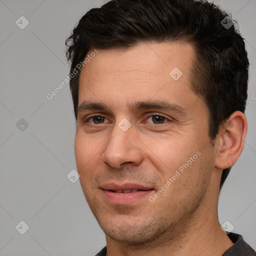
[[[117, 193], [110, 190], [118, 191], [125, 189], [142, 189], [135, 192], [128, 193]], [[134, 184], [134, 183], [125, 183], [125, 184], [115, 184], [115, 183], [107, 183], [101, 186], [101, 191], [103, 192], [103, 196], [107, 202], [111, 204], [131, 204], [145, 196], [149, 196], [149, 194], [153, 191], [153, 188]]]

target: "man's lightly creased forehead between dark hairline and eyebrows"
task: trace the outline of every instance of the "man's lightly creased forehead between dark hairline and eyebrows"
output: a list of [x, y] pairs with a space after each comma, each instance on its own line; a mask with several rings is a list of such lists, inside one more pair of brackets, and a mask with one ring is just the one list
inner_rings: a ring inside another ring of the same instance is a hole
[[189, 94], [197, 96], [190, 89], [193, 57], [190, 43], [140, 43], [127, 49], [99, 49], [81, 69], [78, 105], [94, 100], [118, 108], [120, 103], [150, 99], [181, 104]]

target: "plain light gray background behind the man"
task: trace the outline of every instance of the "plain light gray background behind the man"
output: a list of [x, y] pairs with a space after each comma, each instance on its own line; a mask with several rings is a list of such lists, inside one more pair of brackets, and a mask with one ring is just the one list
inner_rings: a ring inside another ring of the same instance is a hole
[[[79, 180], [66, 177], [76, 169], [68, 84], [46, 98], [68, 75], [64, 40], [88, 9], [102, 3], [0, 0], [0, 255], [93, 255], [105, 244]], [[230, 221], [256, 249], [256, 0], [215, 3], [238, 20], [250, 61], [248, 132], [220, 193], [219, 221]], [[29, 21], [24, 29], [15, 24], [21, 15]], [[23, 130], [16, 126], [21, 118], [28, 123]], [[29, 226], [23, 235], [15, 229], [21, 220]]]

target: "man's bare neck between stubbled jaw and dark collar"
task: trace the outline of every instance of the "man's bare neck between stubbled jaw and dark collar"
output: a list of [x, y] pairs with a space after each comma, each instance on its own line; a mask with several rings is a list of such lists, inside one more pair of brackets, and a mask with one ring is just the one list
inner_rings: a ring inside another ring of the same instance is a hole
[[[106, 235], [107, 255], [221, 256], [233, 245], [233, 242], [220, 228], [217, 215], [218, 194], [215, 193], [216, 189], [208, 190], [192, 214], [184, 217], [182, 221], [150, 243], [127, 244]], [[212, 200], [212, 198], [216, 199]]]

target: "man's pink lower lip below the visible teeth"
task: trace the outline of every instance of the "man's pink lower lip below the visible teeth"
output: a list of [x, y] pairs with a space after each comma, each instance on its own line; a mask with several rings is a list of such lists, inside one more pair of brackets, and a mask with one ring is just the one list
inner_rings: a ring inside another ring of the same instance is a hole
[[150, 190], [138, 190], [135, 192], [130, 193], [116, 193], [111, 192], [109, 190], [102, 189], [105, 198], [108, 202], [114, 203], [114, 204], [129, 204], [132, 203], [144, 196], [148, 196], [153, 191], [153, 189]]

